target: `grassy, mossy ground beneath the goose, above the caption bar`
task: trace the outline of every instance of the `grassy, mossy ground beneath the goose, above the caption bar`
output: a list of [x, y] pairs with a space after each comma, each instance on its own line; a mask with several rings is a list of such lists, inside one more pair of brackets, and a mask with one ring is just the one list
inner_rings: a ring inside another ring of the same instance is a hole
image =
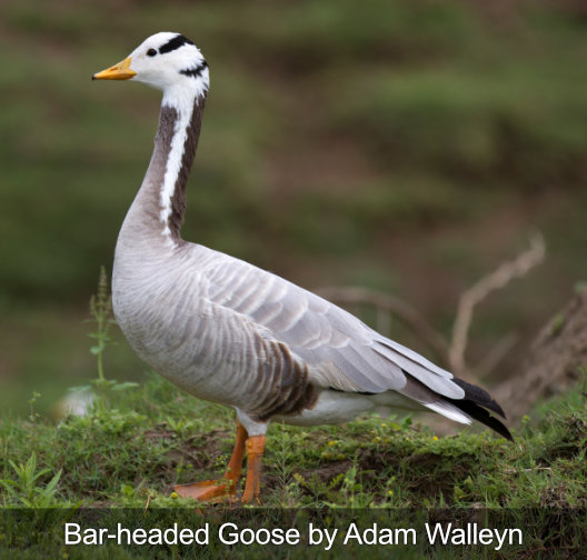
[[[525, 419], [514, 428], [513, 443], [487, 431], [438, 438], [409, 419], [370, 417], [307, 429], [275, 424], [263, 462], [262, 507], [195, 508], [191, 501], [173, 498], [173, 484], [223, 471], [233, 424], [228, 409], [179, 392], [156, 374], [140, 387], [112, 392], [109, 402], [84, 417], [70, 416], [58, 423], [34, 412], [27, 420], [4, 419], [0, 428], [2, 504], [139, 512], [163, 508], [177, 510], [168, 513], [171, 518], [186, 519], [190, 512], [195, 527], [215, 519], [250, 524], [259, 522], [256, 514], [267, 527], [291, 511], [315, 512], [310, 517], [321, 512], [322, 523], [325, 511], [335, 518], [347, 516], [348, 524], [349, 512], [352, 519], [369, 523], [377, 520], [372, 516], [387, 512], [397, 523], [418, 512], [434, 516], [446, 508], [460, 516], [489, 510], [494, 516], [501, 512], [511, 527], [524, 528], [531, 519], [524, 549], [504, 558], [526, 558], [528, 550], [578, 558], [573, 553], [579, 550], [577, 539], [585, 537], [587, 508], [587, 412], [580, 390]], [[33, 472], [24, 473], [31, 457], [36, 460], [32, 471], [47, 469], [37, 479]], [[51, 484], [59, 472], [57, 484]], [[232, 518], [230, 511], [236, 512]], [[561, 536], [554, 529], [553, 516], [569, 511], [577, 513], [569, 518], [570, 524], [565, 523]], [[39, 520], [34, 523], [38, 527]], [[30, 544], [26, 547], [12, 533], [2, 542], [21, 552]], [[73, 549], [68, 550], [69, 554]], [[216, 550], [220, 553], [220, 548]], [[402, 558], [416, 553], [405, 552]], [[470, 558], [489, 553], [469, 552]], [[135, 558], [129, 550], [117, 554]], [[288, 554], [283, 558], [297, 558], [291, 550]]]

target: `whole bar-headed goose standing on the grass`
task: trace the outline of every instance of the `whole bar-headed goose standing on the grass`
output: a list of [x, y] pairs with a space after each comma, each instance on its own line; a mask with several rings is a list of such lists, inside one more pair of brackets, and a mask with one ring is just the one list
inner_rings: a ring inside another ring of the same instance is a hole
[[93, 79], [140, 81], [163, 92], [151, 161], [116, 247], [118, 324], [159, 373], [237, 411], [227, 473], [177, 487], [180, 496], [232, 493], [246, 450], [242, 501], [257, 498], [271, 420], [308, 426], [428, 409], [466, 424], [477, 419], [510, 439], [486, 410], [504, 417], [482, 389], [276, 274], [181, 239], [209, 86], [208, 64], [189, 39], [157, 33]]

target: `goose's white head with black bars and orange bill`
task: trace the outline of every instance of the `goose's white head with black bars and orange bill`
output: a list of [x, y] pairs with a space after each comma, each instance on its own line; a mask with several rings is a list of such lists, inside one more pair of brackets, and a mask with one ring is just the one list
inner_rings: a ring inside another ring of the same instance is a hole
[[180, 33], [162, 31], [146, 39], [125, 60], [92, 76], [93, 80], [133, 80], [163, 91], [163, 103], [203, 97], [210, 84], [200, 50]]

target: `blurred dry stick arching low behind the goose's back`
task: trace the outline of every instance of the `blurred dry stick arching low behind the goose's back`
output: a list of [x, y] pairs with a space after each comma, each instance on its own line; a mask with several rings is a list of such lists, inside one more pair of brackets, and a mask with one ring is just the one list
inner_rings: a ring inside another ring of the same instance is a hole
[[364, 288], [321, 288], [318, 294], [338, 303], [367, 303], [378, 311], [385, 310], [406, 323], [425, 342], [446, 367], [448, 366], [448, 344], [411, 306], [391, 296], [366, 290]]

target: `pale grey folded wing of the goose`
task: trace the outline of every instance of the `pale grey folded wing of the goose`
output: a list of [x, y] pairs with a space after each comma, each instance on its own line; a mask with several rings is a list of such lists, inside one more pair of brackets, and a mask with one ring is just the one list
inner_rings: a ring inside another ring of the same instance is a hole
[[400, 390], [411, 376], [439, 396], [465, 396], [448, 371], [276, 274], [221, 253], [203, 274], [210, 301], [242, 313], [263, 336], [286, 344], [319, 386], [379, 393]]

